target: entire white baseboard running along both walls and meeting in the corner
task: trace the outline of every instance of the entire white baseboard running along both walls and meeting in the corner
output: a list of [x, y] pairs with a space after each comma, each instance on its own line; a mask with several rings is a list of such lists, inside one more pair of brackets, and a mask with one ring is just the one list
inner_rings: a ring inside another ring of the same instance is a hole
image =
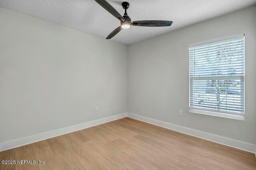
[[256, 153], [256, 145], [253, 145], [253, 144], [250, 144], [250, 143], [245, 143], [245, 142], [242, 142], [242, 141], [236, 141], [234, 139], [229, 139], [229, 138], [226, 138], [226, 137], [213, 135], [213, 134], [210, 134], [210, 133], [198, 131], [198, 130], [195, 130], [195, 129], [190, 129], [190, 128], [187, 128], [187, 127], [182, 127], [182, 126], [179, 126], [179, 125], [174, 125], [174, 124], [171, 124], [171, 123], [151, 119], [151, 118], [148, 118], [148, 117], [143, 117], [143, 116], [140, 116], [140, 115], [135, 115], [135, 114], [132, 114], [132, 113], [122, 113], [122, 114], [119, 114], [119, 115], [114, 115], [114, 116], [105, 117], [105, 118], [94, 120], [94, 121], [89, 121], [89, 122], [82, 123], [82, 124], [79, 124], [79, 125], [74, 125], [74, 126], [65, 127], [65, 128], [62, 128], [62, 129], [57, 129], [57, 130], [54, 130], [54, 131], [49, 131], [49, 132], [40, 133], [40, 134], [37, 134], [37, 135], [32, 135], [32, 136], [29, 136], [29, 137], [15, 139], [13, 141], [3, 142], [3, 143], [0, 143], [0, 152], [4, 151], [4, 150], [16, 148], [16, 147], [21, 147], [23, 145], [28, 145], [30, 143], [35, 143], [35, 142], [38, 142], [38, 141], [42, 141], [42, 140], [45, 140], [45, 139], [49, 139], [49, 138], [52, 138], [52, 137], [64, 135], [64, 134], [71, 133], [71, 132], [74, 132], [74, 131], [79, 131], [79, 130], [82, 130], [82, 129], [86, 129], [88, 127], [93, 127], [93, 126], [100, 125], [100, 124], [103, 124], [103, 123], [107, 123], [107, 122], [110, 122], [110, 121], [114, 121], [114, 120], [117, 120], [117, 119], [122, 119], [124, 117], [131, 117], [133, 119], [137, 119], [137, 120], [140, 120], [140, 121], [144, 121], [146, 123], [150, 123], [150, 124], [153, 124], [153, 125], [164, 127], [166, 129], [171, 129], [173, 131], [178, 131], [180, 133], [185, 133], [187, 135], [191, 135], [191, 136], [194, 136], [194, 137], [198, 137], [198, 138], [201, 138], [201, 139], [205, 139], [205, 140], [208, 140], [208, 141], [212, 141], [212, 142], [215, 142], [215, 143], [219, 143], [219, 144], [222, 144], [222, 145], [233, 147], [233, 148], [236, 148], [236, 149]]

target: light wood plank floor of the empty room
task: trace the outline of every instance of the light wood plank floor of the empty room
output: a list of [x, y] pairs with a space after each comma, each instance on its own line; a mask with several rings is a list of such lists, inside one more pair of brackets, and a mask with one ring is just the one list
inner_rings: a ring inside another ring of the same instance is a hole
[[255, 155], [123, 118], [0, 152], [0, 160], [42, 160], [43, 165], [0, 169], [256, 169]]

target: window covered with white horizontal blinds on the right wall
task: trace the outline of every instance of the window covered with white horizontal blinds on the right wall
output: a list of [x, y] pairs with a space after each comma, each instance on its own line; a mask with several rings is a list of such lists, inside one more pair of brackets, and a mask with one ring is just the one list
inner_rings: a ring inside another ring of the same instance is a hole
[[190, 112], [244, 119], [244, 35], [189, 48]]

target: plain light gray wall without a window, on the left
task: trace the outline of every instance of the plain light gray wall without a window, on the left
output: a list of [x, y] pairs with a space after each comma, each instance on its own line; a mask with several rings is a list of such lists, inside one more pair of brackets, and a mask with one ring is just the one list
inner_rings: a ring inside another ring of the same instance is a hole
[[126, 112], [126, 45], [3, 8], [0, 25], [0, 143]]

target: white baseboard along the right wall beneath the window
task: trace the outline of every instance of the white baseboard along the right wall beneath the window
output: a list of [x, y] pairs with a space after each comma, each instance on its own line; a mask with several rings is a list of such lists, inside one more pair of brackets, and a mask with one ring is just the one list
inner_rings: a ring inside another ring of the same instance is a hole
[[132, 113], [127, 113], [127, 116], [130, 117], [130, 118], [133, 118], [133, 119], [137, 119], [139, 121], [144, 121], [146, 123], [150, 123], [150, 124], [153, 124], [153, 125], [164, 127], [166, 129], [170, 129], [170, 130], [173, 130], [173, 131], [178, 131], [180, 133], [185, 133], [187, 135], [191, 135], [191, 136], [194, 136], [194, 137], [205, 139], [207, 141], [212, 141], [212, 142], [219, 143], [219, 144], [222, 144], [222, 145], [226, 145], [226, 146], [229, 146], [229, 147], [233, 147], [233, 148], [236, 148], [236, 149], [245, 150], [245, 151], [248, 151], [248, 152], [252, 152], [254, 154], [256, 153], [256, 145], [253, 145], [253, 144], [250, 144], [250, 143], [245, 143], [245, 142], [242, 142], [242, 141], [236, 141], [234, 139], [229, 139], [229, 138], [226, 138], [226, 137], [213, 135], [213, 134], [210, 134], [210, 133], [206, 133], [206, 132], [198, 131], [198, 130], [195, 130], [195, 129], [190, 129], [190, 128], [187, 128], [187, 127], [174, 125], [174, 124], [171, 124], [171, 123], [151, 119], [151, 118], [148, 118], [148, 117], [143, 117], [143, 116], [140, 116], [140, 115], [135, 115], [135, 114], [132, 114]]

